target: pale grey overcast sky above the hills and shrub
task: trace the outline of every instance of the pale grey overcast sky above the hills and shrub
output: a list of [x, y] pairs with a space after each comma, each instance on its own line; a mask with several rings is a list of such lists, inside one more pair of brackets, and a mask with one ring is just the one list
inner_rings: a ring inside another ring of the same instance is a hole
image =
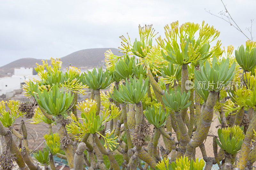
[[[256, 22], [254, 0], [223, 0], [241, 29]], [[20, 58], [63, 57], [88, 48], [117, 48], [119, 36], [138, 36], [138, 25], [153, 24], [164, 36], [173, 21], [213, 25], [222, 46], [245, 44], [246, 37], [225, 21], [208, 14], [222, 11], [220, 0], [1, 0], [0, 66]], [[256, 35], [256, 23], [252, 32]], [[155, 42], [155, 41], [154, 41]]]

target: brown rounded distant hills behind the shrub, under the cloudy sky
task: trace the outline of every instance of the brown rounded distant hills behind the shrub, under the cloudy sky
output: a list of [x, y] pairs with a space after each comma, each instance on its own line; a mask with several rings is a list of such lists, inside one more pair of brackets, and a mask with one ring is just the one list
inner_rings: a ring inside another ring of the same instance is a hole
[[[71, 53], [65, 57], [61, 57], [60, 60], [62, 63], [62, 68], [65, 69], [66, 67], [71, 64], [77, 68], [81, 69], [92, 69], [93, 67], [105, 67], [104, 61], [104, 53], [106, 50], [111, 49], [111, 51], [115, 55], [122, 55], [118, 52], [116, 48], [92, 48], [92, 49], [84, 49], [80, 51], [76, 51]], [[36, 67], [36, 63], [41, 64], [41, 59], [35, 58], [22, 58], [16, 60], [12, 63], [6, 64], [0, 67], [0, 77], [7, 76], [7, 73], [14, 73], [14, 68], [20, 67]]]

